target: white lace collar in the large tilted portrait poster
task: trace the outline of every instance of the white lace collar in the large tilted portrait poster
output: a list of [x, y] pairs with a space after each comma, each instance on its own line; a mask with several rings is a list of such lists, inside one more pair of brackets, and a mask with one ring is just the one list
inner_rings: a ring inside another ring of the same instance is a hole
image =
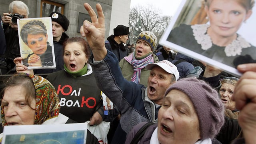
[[[195, 24], [191, 26], [195, 40], [201, 45], [203, 50], [208, 50], [212, 47], [212, 39], [206, 33], [209, 27], [210, 25], [208, 24]], [[228, 44], [225, 47], [224, 52], [226, 56], [236, 56], [241, 54], [243, 48], [248, 48], [250, 46], [249, 42], [247, 42], [242, 36], [238, 35], [236, 40], [233, 40], [231, 44]]]

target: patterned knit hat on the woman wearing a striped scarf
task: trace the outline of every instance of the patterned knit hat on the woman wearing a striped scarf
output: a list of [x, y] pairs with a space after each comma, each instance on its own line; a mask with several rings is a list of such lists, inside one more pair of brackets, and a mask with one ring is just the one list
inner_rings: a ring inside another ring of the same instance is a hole
[[[150, 47], [151, 47], [151, 50], [153, 51], [154, 48], [156, 47], [156, 43], [157, 43], [157, 38], [156, 36], [153, 34], [153, 32], [149, 32], [149, 31], [143, 31], [139, 34], [138, 36], [138, 40], [144, 40], [145, 42], [147, 42]], [[136, 41], [136, 42], [137, 42]]]

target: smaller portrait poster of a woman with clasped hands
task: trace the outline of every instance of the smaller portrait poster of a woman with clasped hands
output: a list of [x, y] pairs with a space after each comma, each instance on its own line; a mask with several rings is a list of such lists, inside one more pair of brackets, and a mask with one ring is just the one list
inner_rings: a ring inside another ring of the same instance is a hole
[[28, 69], [56, 68], [52, 37], [52, 19], [17, 20], [22, 64]]

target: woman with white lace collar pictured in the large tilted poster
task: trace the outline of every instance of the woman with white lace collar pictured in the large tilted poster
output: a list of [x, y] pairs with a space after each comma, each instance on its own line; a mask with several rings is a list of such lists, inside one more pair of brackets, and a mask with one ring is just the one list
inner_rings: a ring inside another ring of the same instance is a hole
[[231, 67], [252, 63], [256, 48], [237, 33], [252, 14], [254, 0], [204, 0], [209, 24], [174, 28], [168, 41]]

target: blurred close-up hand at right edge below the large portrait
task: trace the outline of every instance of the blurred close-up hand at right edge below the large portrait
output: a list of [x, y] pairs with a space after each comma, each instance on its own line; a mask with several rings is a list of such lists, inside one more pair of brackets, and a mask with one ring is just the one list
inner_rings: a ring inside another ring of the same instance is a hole
[[256, 142], [256, 63], [238, 65], [237, 69], [244, 73], [234, 90], [232, 99], [240, 110], [238, 122], [243, 130], [246, 144]]

